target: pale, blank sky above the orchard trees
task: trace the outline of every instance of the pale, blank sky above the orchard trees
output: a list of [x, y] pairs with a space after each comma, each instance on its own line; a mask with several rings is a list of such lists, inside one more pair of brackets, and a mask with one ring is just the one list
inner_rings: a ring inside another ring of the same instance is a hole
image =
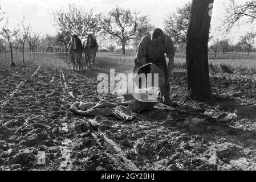
[[[34, 31], [41, 35], [54, 35], [56, 30], [52, 26], [52, 11], [59, 10], [62, 6], [67, 9], [69, 3], [76, 3], [86, 10], [91, 8], [107, 14], [115, 6], [140, 11], [143, 15], [150, 16], [152, 24], [156, 27], [164, 28], [163, 19], [168, 13], [176, 11], [191, 0], [0, 0], [1, 11], [5, 12], [5, 17], [9, 18], [10, 26], [17, 26], [25, 16], [26, 22], [30, 23]], [[235, 0], [243, 3], [246, 0]], [[224, 4], [226, 0], [215, 0], [212, 15], [212, 34], [221, 36], [222, 33], [216, 31], [221, 26], [225, 15]], [[228, 5], [227, 5], [228, 6]], [[0, 23], [3, 26], [5, 20]], [[248, 27], [235, 28], [230, 34], [233, 43], [238, 42], [239, 36], [244, 35]]]

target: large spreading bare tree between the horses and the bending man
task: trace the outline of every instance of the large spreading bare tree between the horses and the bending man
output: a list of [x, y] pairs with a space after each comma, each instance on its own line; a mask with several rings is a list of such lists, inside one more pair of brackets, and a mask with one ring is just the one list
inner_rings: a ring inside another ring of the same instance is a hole
[[111, 35], [116, 43], [121, 44], [123, 54], [125, 55], [125, 46], [129, 40], [135, 38], [137, 27], [139, 26], [137, 13], [132, 13], [131, 10], [115, 7], [109, 11], [108, 17], [103, 17], [101, 28], [104, 32]]

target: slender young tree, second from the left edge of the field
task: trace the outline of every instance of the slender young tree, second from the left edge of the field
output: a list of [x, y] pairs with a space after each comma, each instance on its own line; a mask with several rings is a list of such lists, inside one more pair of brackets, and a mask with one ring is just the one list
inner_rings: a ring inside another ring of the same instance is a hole
[[30, 24], [25, 23], [25, 17], [23, 17], [23, 19], [21, 20], [20, 26], [21, 26], [21, 31], [19, 31], [19, 34], [16, 35], [16, 39], [18, 43], [22, 44], [22, 61], [23, 63], [25, 63], [24, 49], [25, 49], [25, 44], [31, 34], [31, 27], [30, 27]]

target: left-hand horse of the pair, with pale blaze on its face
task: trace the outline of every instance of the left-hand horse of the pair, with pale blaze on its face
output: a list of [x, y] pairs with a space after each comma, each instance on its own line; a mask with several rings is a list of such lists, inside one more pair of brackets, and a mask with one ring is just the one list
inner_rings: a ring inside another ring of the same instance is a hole
[[72, 62], [72, 70], [80, 71], [81, 59], [84, 52], [82, 41], [78, 38], [78, 35], [72, 35], [70, 46], [70, 56]]

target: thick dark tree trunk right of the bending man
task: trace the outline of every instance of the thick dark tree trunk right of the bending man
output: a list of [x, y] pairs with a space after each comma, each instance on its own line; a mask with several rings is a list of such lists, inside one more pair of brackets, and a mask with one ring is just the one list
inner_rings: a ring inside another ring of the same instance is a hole
[[187, 34], [186, 60], [188, 62], [188, 90], [192, 98], [208, 100], [212, 95], [208, 40], [211, 16], [209, 5], [214, 0], [193, 0]]

